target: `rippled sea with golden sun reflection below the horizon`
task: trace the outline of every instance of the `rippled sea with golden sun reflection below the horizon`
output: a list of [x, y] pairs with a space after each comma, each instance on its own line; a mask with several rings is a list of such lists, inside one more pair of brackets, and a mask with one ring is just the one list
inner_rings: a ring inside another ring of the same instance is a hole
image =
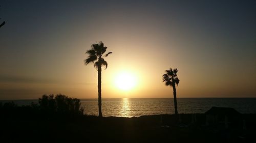
[[[29, 105], [37, 100], [14, 101], [18, 105]], [[98, 99], [80, 99], [84, 113], [98, 115]], [[256, 113], [256, 98], [178, 98], [179, 113], [204, 113], [212, 106], [232, 107], [241, 113]], [[102, 99], [104, 117], [139, 117], [143, 115], [173, 114], [173, 98], [110, 98]]]

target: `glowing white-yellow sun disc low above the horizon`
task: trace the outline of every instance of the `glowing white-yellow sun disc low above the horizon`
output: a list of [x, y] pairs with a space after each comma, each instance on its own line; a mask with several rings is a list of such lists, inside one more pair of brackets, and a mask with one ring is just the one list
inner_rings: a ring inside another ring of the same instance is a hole
[[132, 73], [120, 73], [115, 78], [115, 85], [118, 89], [123, 91], [130, 91], [135, 88], [137, 84], [137, 78]]

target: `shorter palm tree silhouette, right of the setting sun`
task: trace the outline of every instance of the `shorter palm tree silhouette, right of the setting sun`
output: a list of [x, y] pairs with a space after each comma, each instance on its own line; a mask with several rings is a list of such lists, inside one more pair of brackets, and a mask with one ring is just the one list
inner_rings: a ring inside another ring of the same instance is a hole
[[177, 106], [177, 98], [176, 98], [176, 88], [175, 84], [179, 84], [180, 79], [177, 77], [177, 69], [170, 68], [169, 70], [165, 71], [165, 74], [163, 74], [163, 82], [165, 82], [166, 86], [173, 87], [174, 90], [174, 108], [175, 108], [175, 114], [178, 114], [178, 106]]

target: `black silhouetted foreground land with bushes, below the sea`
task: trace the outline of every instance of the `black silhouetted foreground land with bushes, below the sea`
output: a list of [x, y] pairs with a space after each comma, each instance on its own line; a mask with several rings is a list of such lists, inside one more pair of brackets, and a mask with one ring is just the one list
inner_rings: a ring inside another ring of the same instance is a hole
[[254, 114], [233, 118], [226, 128], [206, 126], [205, 114], [87, 116], [78, 101], [45, 95], [38, 105], [0, 104], [0, 142], [256, 142]]

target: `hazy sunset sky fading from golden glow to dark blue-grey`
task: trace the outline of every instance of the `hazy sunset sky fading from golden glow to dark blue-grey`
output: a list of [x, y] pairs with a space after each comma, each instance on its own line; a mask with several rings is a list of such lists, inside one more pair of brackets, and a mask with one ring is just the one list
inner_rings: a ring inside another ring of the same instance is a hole
[[[1, 1], [0, 100], [43, 94], [97, 98], [85, 52], [113, 53], [102, 98], [256, 97], [256, 1]], [[131, 90], [118, 75], [135, 78]]]

